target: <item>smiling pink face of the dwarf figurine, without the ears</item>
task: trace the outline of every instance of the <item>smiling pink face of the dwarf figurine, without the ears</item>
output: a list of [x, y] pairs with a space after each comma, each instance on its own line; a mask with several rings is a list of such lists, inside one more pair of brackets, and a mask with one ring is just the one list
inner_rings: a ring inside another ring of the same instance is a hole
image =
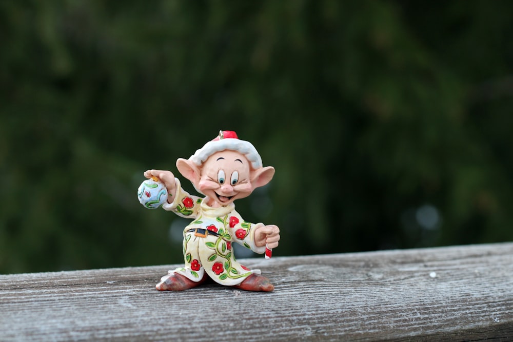
[[246, 157], [236, 151], [216, 152], [205, 160], [196, 188], [221, 206], [251, 194], [250, 167]]

